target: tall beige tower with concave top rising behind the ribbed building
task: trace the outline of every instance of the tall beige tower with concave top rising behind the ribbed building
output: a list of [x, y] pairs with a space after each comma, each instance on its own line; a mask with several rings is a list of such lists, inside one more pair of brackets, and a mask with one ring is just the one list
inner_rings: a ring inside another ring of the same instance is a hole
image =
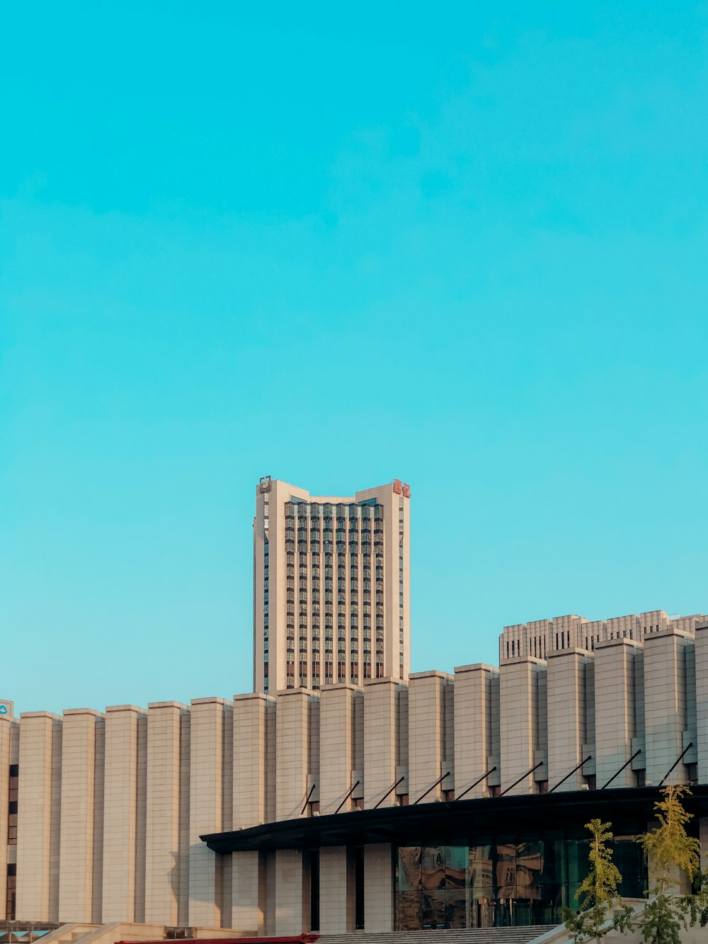
[[256, 692], [406, 680], [411, 489], [311, 496], [269, 476], [253, 523]]

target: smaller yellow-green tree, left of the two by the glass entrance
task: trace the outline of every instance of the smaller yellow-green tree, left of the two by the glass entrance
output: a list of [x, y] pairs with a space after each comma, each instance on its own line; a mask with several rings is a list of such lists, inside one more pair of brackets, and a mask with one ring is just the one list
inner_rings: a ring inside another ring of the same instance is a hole
[[[590, 830], [590, 869], [575, 894], [579, 899], [578, 911], [565, 909], [565, 927], [573, 936], [575, 944], [582, 941], [599, 941], [611, 931], [624, 930], [632, 915], [632, 908], [625, 906], [619, 896], [618, 885], [622, 881], [619, 869], [612, 861], [611, 823], [591, 819], [586, 824]], [[615, 909], [616, 914], [612, 914]], [[612, 916], [612, 919], [610, 919]]]

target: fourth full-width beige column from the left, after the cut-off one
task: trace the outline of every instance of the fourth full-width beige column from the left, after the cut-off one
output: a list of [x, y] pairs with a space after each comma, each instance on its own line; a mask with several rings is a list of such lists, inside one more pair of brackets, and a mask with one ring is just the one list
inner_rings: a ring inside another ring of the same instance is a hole
[[145, 920], [177, 924], [179, 902], [179, 720], [185, 705], [147, 706]]

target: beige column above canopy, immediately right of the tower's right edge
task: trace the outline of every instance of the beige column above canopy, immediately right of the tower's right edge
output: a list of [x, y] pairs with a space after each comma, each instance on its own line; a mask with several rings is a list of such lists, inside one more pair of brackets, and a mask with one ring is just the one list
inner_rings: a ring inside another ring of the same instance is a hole
[[[415, 672], [408, 686], [409, 723], [409, 793], [413, 803], [441, 777], [446, 770], [447, 684], [452, 677], [446, 672]], [[450, 724], [452, 719], [450, 719]], [[428, 794], [423, 802], [439, 800], [443, 790], [454, 789], [454, 771], [442, 784]]]

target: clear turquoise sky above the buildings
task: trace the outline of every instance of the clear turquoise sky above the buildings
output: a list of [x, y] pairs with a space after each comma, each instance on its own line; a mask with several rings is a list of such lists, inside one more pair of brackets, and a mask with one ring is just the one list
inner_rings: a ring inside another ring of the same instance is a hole
[[0, 20], [0, 696], [250, 690], [265, 474], [411, 482], [414, 670], [708, 611], [708, 4]]

